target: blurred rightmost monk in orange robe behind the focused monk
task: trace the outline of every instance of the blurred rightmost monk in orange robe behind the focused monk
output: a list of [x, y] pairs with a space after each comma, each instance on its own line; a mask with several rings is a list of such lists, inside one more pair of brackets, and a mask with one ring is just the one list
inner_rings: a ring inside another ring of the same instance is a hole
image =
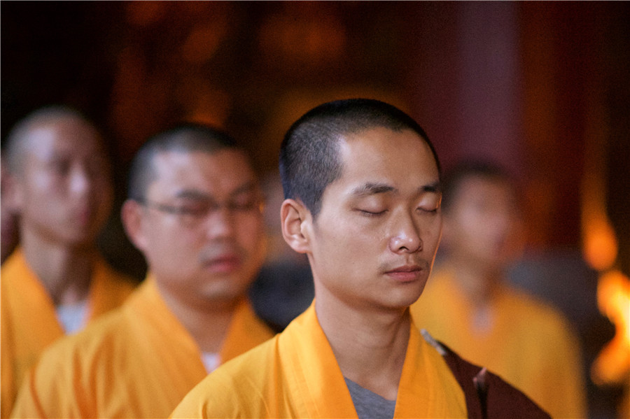
[[440, 263], [410, 308], [472, 362], [526, 393], [554, 418], [586, 417], [577, 337], [554, 308], [505, 279], [519, 254], [516, 185], [499, 166], [461, 162], [444, 176]]

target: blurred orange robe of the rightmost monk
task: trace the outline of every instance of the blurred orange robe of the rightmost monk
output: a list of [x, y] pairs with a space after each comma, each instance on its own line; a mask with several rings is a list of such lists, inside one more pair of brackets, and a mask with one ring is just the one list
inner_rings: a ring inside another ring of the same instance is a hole
[[503, 285], [491, 303], [491, 326], [475, 331], [472, 303], [451, 270], [440, 267], [410, 311], [418, 327], [501, 376], [553, 418], [586, 417], [579, 343], [553, 308]]

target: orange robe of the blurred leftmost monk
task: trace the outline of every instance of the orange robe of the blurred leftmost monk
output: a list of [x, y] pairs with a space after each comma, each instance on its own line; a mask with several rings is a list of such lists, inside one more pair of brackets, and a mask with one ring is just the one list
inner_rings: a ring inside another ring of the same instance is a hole
[[[1, 417], [7, 418], [22, 379], [41, 352], [64, 336], [55, 305], [20, 248], [4, 262], [0, 280]], [[88, 321], [120, 306], [134, 281], [97, 260], [88, 296]]]

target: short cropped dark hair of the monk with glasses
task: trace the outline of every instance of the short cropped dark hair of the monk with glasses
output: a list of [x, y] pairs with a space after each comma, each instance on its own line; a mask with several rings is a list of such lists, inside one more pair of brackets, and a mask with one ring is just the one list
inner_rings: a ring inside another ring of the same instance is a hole
[[226, 149], [238, 149], [237, 143], [226, 132], [197, 123], [183, 123], [148, 139], [138, 150], [129, 170], [127, 197], [142, 202], [146, 190], [155, 180], [153, 162], [162, 152], [207, 152], [215, 154]]

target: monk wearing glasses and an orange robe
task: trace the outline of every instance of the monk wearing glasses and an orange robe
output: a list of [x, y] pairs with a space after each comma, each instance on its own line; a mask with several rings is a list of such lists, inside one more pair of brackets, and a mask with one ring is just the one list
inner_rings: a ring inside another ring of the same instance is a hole
[[165, 418], [209, 371], [273, 336], [246, 299], [264, 258], [262, 195], [233, 140], [185, 125], [141, 148], [123, 206], [148, 276], [41, 357], [15, 417]]

